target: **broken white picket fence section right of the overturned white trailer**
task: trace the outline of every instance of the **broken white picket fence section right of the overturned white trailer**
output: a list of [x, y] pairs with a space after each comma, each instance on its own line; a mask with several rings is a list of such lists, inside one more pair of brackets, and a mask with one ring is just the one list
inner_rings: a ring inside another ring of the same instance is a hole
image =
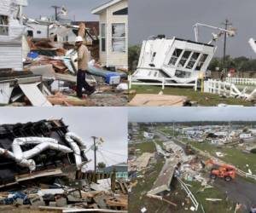
[[241, 96], [243, 92], [236, 88], [234, 83], [209, 79], [204, 82], [204, 92], [218, 95]]

